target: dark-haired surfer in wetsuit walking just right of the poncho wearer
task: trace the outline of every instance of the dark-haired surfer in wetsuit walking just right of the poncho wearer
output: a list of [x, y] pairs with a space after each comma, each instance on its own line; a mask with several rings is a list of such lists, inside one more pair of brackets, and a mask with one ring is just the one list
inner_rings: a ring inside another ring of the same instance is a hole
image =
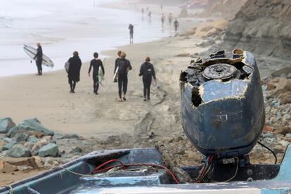
[[103, 75], [105, 74], [103, 63], [100, 59], [98, 59], [98, 53], [93, 53], [93, 59], [90, 62], [89, 72], [88, 75], [90, 77], [91, 68], [93, 67], [93, 92], [98, 95], [99, 89], [99, 68], [101, 68]]

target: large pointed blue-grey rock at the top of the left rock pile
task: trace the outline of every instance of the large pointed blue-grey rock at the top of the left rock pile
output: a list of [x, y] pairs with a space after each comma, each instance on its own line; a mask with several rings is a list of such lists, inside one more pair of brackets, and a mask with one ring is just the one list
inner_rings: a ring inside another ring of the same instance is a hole
[[46, 129], [41, 125], [37, 118], [26, 119], [18, 124], [17, 127], [13, 127], [8, 131], [8, 136], [13, 137], [16, 134], [24, 133], [34, 136], [53, 136], [54, 132], [50, 129]]

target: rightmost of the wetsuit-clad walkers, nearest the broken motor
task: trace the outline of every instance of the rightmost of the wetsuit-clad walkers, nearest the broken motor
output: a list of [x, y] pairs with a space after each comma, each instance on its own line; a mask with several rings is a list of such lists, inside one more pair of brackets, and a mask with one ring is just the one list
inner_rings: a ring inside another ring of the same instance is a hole
[[[150, 101], [150, 84], [152, 84], [152, 77], [155, 78], [155, 68], [150, 63], [150, 57], [145, 58], [145, 63], [141, 65], [139, 76], [143, 76], [143, 101]], [[148, 98], [147, 98], [148, 97]]]

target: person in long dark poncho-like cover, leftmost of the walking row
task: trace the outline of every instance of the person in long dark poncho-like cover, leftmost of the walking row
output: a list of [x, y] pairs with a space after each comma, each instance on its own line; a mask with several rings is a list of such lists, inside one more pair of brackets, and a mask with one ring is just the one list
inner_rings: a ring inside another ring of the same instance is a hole
[[71, 87], [71, 93], [75, 93], [75, 87], [77, 82], [80, 81], [80, 70], [82, 66], [82, 61], [79, 58], [79, 53], [75, 51], [73, 57], [68, 60], [70, 63], [69, 70], [67, 72], [67, 77], [69, 79], [69, 84]]

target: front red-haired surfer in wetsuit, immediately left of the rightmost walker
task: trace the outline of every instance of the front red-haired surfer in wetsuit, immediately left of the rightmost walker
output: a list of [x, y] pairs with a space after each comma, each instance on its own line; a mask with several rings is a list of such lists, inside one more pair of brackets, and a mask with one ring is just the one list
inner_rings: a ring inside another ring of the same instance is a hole
[[[127, 54], [122, 52], [120, 54], [120, 59], [117, 60], [117, 67], [118, 67], [118, 94], [120, 101], [127, 101], [126, 94], [127, 94], [127, 83], [128, 78], [127, 74], [129, 70], [132, 70], [131, 64], [129, 60], [126, 59]], [[123, 96], [122, 96], [123, 91]]]

